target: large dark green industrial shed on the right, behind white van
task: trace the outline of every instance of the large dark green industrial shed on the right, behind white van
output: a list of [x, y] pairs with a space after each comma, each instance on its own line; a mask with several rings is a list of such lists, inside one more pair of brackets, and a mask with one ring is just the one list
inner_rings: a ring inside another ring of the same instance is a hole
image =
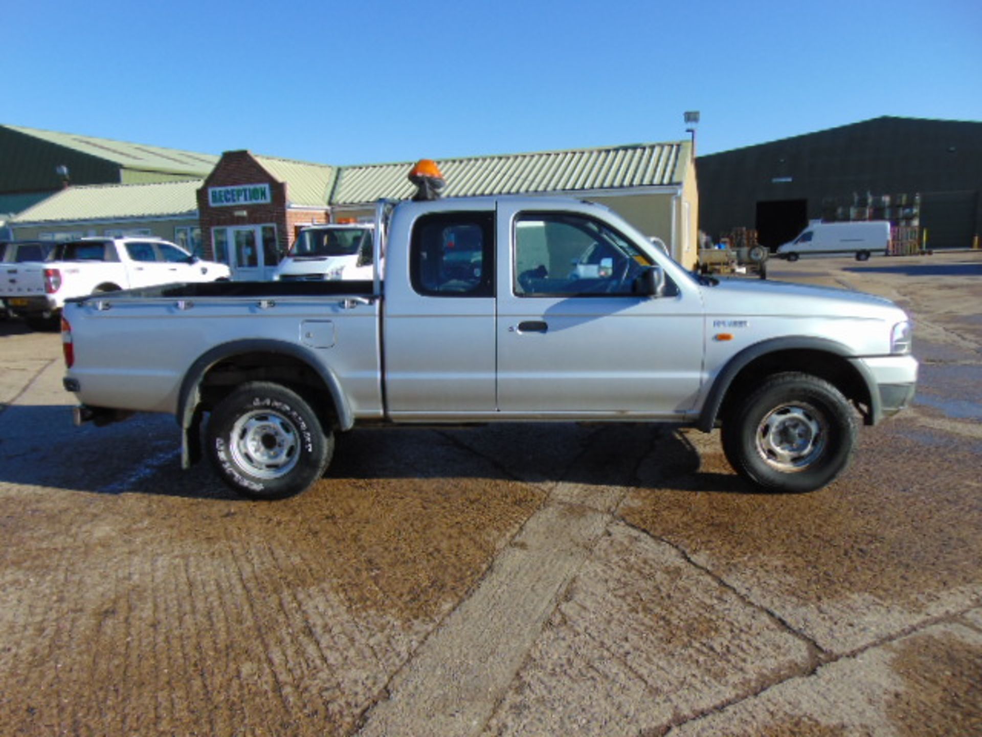
[[699, 227], [756, 229], [772, 249], [810, 220], [919, 225], [928, 249], [982, 234], [982, 123], [883, 117], [700, 156]]

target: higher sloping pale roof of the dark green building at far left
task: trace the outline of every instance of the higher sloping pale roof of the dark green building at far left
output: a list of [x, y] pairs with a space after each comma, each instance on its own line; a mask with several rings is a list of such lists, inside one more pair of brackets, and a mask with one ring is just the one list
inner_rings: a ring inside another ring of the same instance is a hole
[[35, 139], [71, 148], [90, 156], [95, 156], [96, 158], [112, 161], [129, 169], [174, 172], [203, 177], [214, 168], [219, 158], [211, 153], [197, 153], [178, 148], [164, 148], [159, 145], [148, 145], [146, 143], [128, 143], [112, 141], [110, 139], [98, 139], [93, 136], [80, 136], [74, 133], [41, 131], [25, 126], [5, 125], [4, 128], [9, 128], [12, 131], [17, 131]]

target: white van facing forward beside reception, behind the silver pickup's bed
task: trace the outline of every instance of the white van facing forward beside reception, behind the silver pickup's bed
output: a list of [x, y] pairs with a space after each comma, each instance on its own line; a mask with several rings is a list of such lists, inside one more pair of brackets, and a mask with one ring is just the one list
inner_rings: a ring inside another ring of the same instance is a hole
[[273, 272], [273, 281], [371, 279], [374, 232], [374, 223], [304, 228]]

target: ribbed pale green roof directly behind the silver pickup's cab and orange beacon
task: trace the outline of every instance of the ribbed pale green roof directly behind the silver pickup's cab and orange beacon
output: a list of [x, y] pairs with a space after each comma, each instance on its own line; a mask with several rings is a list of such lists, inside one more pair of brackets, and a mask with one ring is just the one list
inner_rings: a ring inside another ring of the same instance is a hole
[[[444, 195], [467, 197], [680, 185], [690, 156], [691, 144], [685, 141], [470, 156], [437, 164], [447, 180]], [[415, 192], [407, 179], [411, 166], [343, 167], [331, 204], [410, 198]]]

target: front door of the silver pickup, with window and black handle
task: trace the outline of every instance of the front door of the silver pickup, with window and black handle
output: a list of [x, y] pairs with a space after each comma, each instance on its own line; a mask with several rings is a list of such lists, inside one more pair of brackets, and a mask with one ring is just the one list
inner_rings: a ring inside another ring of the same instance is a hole
[[633, 294], [653, 262], [585, 208], [521, 210], [501, 202], [498, 408], [562, 417], [672, 418], [692, 408], [702, 369], [702, 303], [693, 284]]

